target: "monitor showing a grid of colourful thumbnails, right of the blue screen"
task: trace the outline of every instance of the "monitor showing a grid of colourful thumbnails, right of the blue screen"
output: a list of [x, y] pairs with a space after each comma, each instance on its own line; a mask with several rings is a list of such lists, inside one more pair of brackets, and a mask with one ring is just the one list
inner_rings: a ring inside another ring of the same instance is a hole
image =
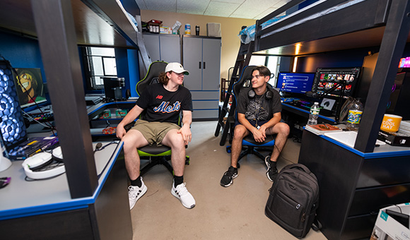
[[[324, 93], [334, 87], [334, 85], [345, 81], [343, 96], [353, 96], [353, 90], [358, 82], [361, 67], [353, 68], [317, 68], [315, 79], [313, 80], [312, 92]], [[327, 92], [328, 95], [339, 97], [341, 95], [341, 85], [335, 90]]]

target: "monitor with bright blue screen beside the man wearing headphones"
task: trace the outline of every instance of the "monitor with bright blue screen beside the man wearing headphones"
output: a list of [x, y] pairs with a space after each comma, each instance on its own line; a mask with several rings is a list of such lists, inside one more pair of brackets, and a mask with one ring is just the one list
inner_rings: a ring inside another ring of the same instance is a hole
[[276, 88], [282, 92], [305, 94], [312, 89], [315, 73], [279, 73]]

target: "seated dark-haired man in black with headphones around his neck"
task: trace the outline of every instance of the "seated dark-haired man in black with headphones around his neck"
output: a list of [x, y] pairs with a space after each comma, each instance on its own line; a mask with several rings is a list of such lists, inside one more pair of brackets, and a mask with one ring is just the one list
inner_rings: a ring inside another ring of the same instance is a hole
[[281, 96], [268, 85], [271, 72], [266, 66], [257, 66], [252, 71], [252, 88], [243, 89], [237, 97], [238, 119], [232, 140], [230, 167], [221, 179], [221, 186], [228, 187], [238, 176], [238, 157], [242, 150], [242, 139], [252, 134], [255, 141], [262, 143], [266, 135], [276, 134], [271, 155], [266, 156], [266, 176], [275, 181], [278, 175], [276, 161], [289, 135], [289, 126], [281, 122]]

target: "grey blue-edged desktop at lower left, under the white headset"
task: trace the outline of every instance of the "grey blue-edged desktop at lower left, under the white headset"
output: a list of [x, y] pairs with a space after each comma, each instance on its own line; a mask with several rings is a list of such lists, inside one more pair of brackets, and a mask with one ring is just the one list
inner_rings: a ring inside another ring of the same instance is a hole
[[[96, 144], [93, 143], [93, 148]], [[122, 142], [95, 152], [95, 167], [101, 175], [94, 195], [87, 198], [71, 199], [66, 174], [48, 180], [25, 181], [23, 161], [12, 162], [10, 168], [0, 172], [0, 177], [11, 176], [10, 184], [0, 189], [0, 220], [86, 208], [95, 202], [121, 150]]]

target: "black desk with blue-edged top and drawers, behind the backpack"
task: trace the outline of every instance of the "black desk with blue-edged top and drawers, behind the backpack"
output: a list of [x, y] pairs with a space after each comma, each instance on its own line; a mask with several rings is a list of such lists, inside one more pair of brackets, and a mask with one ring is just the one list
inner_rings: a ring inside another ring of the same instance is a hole
[[319, 181], [317, 218], [329, 240], [369, 239], [380, 208], [410, 199], [410, 148], [363, 153], [303, 131], [299, 160]]

